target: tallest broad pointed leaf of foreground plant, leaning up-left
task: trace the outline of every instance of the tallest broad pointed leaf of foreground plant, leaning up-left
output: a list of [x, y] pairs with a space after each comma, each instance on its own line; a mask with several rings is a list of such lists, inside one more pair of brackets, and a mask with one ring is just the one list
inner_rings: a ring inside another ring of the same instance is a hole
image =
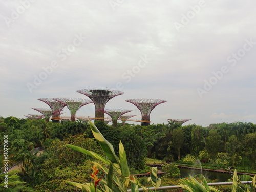
[[98, 128], [90, 120], [89, 120], [89, 124], [95, 139], [97, 139], [99, 145], [101, 146], [102, 150], [105, 152], [106, 156], [109, 158], [109, 160], [112, 163], [119, 164], [119, 159], [117, 158], [114, 152], [113, 145], [103, 137], [103, 135], [100, 133]]

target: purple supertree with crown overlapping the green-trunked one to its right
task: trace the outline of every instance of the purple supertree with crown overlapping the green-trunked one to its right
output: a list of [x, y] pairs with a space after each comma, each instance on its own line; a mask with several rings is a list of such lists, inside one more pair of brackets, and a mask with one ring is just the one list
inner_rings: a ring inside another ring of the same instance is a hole
[[61, 102], [55, 101], [52, 98], [40, 98], [39, 101], [45, 102], [50, 106], [50, 108], [56, 112], [52, 115], [52, 122], [59, 122], [59, 116], [62, 109], [66, 106], [66, 104], [63, 104]]

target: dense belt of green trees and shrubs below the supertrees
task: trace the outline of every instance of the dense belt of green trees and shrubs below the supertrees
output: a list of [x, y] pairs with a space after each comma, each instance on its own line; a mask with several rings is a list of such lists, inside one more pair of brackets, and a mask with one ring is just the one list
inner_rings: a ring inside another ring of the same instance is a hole
[[[199, 159], [211, 168], [235, 166], [244, 172], [256, 171], [256, 125], [253, 123], [219, 123], [209, 127], [170, 122], [150, 126], [120, 123], [112, 127], [98, 121], [95, 125], [114, 146], [117, 155], [119, 141], [122, 141], [134, 173], [145, 168], [146, 157], [188, 165]], [[44, 119], [0, 117], [0, 134], [0, 158], [3, 159], [4, 154], [4, 135], [8, 135], [9, 164], [20, 162], [22, 167], [16, 175], [18, 182], [13, 184], [16, 188], [23, 187], [22, 191], [79, 191], [63, 180], [79, 183], [91, 180], [92, 158], [67, 148], [67, 143], [103, 154], [89, 125], [82, 122], [46, 123]], [[31, 153], [36, 147], [44, 147], [44, 153], [39, 156]]]

